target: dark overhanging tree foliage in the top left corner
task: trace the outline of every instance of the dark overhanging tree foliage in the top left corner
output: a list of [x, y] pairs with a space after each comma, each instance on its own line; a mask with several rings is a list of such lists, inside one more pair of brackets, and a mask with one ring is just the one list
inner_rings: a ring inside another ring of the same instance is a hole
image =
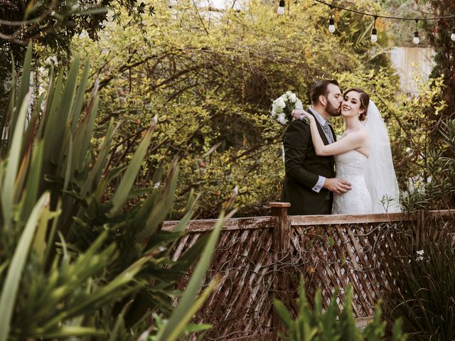
[[[129, 20], [141, 23], [142, 17], [154, 13], [154, 7], [137, 0], [2, 0], [0, 6], [0, 104], [6, 103], [11, 70], [20, 69], [26, 46], [33, 40], [54, 55], [70, 60], [70, 41], [85, 31], [96, 40], [109, 14], [117, 6], [129, 15]], [[115, 12], [110, 14], [117, 18]], [[35, 55], [35, 58], [38, 58]], [[5, 104], [6, 105], [6, 104]]]

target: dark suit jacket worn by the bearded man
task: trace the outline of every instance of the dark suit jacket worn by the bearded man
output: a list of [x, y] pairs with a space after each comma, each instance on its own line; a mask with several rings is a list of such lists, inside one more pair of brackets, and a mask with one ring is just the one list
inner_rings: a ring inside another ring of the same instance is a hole
[[[313, 115], [308, 109], [307, 112]], [[314, 116], [314, 115], [313, 115]], [[319, 135], [328, 144], [319, 121], [316, 119]], [[333, 139], [335, 133], [331, 127]], [[333, 156], [317, 156], [311, 141], [309, 124], [292, 121], [284, 132], [284, 176], [282, 202], [290, 202], [289, 215], [329, 215], [332, 209], [333, 193], [314, 188], [319, 175], [326, 178], [335, 176]]]

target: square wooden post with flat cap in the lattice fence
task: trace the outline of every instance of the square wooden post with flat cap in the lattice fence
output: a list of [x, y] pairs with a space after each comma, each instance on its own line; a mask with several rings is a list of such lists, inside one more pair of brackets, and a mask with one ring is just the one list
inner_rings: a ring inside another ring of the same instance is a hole
[[[285, 305], [289, 303], [289, 274], [287, 274], [287, 264], [290, 259], [291, 251], [291, 222], [288, 220], [287, 209], [291, 207], [289, 202], [269, 202], [272, 208], [272, 216], [277, 217], [277, 223], [273, 228], [273, 256], [274, 256], [274, 295], [283, 301]], [[278, 332], [284, 332], [283, 325], [275, 309], [273, 309], [272, 320], [273, 335], [272, 340], [278, 340]]]

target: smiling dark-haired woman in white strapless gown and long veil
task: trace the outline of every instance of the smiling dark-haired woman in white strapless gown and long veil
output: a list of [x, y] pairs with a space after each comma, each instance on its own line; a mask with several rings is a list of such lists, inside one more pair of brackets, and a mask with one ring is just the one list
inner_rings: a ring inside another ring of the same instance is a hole
[[310, 121], [316, 155], [335, 156], [336, 176], [352, 183], [352, 190], [333, 198], [332, 214], [401, 212], [397, 178], [384, 121], [370, 97], [361, 89], [344, 92], [341, 115], [346, 129], [341, 139], [324, 145], [314, 117]]

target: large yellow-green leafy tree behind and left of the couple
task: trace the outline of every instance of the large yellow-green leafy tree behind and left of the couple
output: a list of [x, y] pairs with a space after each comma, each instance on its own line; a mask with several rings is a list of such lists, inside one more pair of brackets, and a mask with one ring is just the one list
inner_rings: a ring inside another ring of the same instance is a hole
[[[314, 80], [376, 65], [380, 55], [380, 45], [365, 53], [370, 23], [353, 17], [346, 26], [350, 33], [331, 35], [326, 6], [314, 1], [292, 6], [289, 16], [279, 17], [275, 5], [262, 1], [223, 12], [205, 11], [193, 1], [171, 8], [159, 1], [144, 31], [112, 22], [95, 44], [76, 39], [73, 50], [97, 57], [105, 104], [99, 126], [111, 117], [122, 119], [122, 148], [112, 162], [129, 155], [144, 126], [159, 114], [155, 153], [139, 182], [149, 181], [151, 164], [178, 156], [183, 180], [178, 193], [203, 191], [199, 215], [217, 215], [234, 185], [242, 214], [259, 214], [264, 203], [278, 200], [284, 130], [269, 119], [271, 99], [291, 90], [309, 104]], [[350, 43], [352, 37], [358, 43]], [[176, 205], [176, 215], [179, 210]]]

